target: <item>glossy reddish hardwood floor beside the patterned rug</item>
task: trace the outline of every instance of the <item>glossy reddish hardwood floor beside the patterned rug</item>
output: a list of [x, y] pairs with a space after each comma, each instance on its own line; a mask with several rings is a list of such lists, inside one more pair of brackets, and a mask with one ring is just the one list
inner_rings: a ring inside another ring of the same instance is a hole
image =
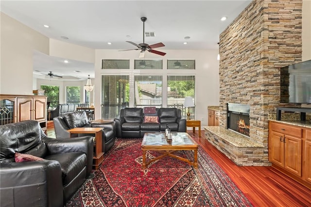
[[[201, 131], [192, 133], [198, 144], [228, 174], [255, 207], [311, 207], [311, 190], [272, 167], [243, 167], [235, 165], [229, 158], [211, 145]], [[49, 136], [55, 135], [53, 125], [48, 127]]]

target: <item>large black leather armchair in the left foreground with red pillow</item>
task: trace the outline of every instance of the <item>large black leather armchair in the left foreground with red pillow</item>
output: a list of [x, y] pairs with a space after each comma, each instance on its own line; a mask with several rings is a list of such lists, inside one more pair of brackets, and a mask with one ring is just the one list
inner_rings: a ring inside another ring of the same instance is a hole
[[[48, 138], [38, 121], [1, 125], [0, 149], [1, 207], [62, 207], [92, 170], [92, 137]], [[16, 162], [16, 153], [44, 160]]]

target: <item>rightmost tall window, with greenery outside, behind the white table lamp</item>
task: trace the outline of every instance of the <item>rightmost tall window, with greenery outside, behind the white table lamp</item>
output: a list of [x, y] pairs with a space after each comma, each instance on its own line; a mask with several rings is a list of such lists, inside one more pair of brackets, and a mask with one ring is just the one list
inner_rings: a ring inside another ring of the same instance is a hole
[[[195, 104], [195, 76], [168, 76], [167, 77], [167, 106], [182, 110], [183, 118], [187, 118], [186, 108], [183, 107], [185, 97], [191, 96]], [[190, 107], [190, 119], [195, 119], [195, 107]]]

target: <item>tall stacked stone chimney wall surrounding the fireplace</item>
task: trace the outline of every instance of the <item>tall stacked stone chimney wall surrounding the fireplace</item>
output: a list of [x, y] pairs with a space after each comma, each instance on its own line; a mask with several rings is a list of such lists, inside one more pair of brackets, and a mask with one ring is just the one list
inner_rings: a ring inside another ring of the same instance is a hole
[[267, 149], [279, 68], [301, 62], [301, 17], [302, 0], [253, 0], [220, 35], [220, 127], [227, 103], [249, 104], [250, 139]]

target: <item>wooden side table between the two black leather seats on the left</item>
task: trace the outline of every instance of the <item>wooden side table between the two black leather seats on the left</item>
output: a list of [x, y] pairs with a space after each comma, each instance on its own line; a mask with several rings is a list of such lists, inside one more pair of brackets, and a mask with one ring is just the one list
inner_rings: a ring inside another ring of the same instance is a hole
[[97, 170], [104, 161], [102, 149], [102, 127], [77, 127], [67, 130], [71, 134], [95, 134], [95, 152], [93, 154], [93, 166]]

